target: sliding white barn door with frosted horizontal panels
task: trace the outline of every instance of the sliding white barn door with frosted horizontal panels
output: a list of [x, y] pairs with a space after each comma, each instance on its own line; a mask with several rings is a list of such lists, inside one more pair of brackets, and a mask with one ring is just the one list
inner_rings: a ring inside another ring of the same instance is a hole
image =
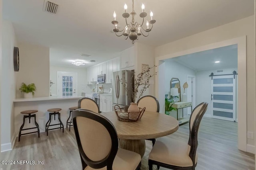
[[236, 79], [234, 75], [212, 77], [212, 117], [236, 121]]

